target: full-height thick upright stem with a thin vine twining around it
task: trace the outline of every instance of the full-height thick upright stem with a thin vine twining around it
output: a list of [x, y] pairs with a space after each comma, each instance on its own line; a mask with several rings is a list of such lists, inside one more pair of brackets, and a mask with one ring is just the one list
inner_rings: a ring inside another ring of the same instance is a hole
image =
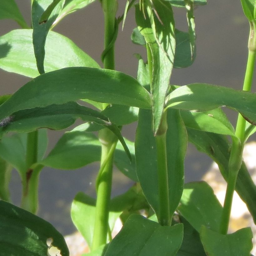
[[[105, 49], [108, 49], [103, 56], [104, 68], [115, 69], [115, 54], [113, 38], [116, 32], [116, 0], [102, 0], [102, 9], [105, 21]], [[111, 47], [109, 45], [112, 43]], [[103, 109], [108, 104], [103, 104]], [[113, 157], [116, 148], [117, 138], [107, 128], [100, 130], [99, 139], [101, 141], [101, 171], [96, 182], [97, 200], [94, 233], [91, 250], [97, 249], [102, 244], [107, 243], [109, 229], [109, 204], [111, 199]]]

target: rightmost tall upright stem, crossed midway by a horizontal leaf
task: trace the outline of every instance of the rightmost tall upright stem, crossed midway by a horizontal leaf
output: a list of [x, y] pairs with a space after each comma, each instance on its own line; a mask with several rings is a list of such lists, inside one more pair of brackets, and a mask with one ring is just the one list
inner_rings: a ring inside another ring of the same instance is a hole
[[[250, 36], [248, 42], [248, 60], [244, 77], [244, 91], [250, 91], [252, 87], [255, 56], [256, 56], [256, 37], [255, 37], [255, 23], [250, 22]], [[229, 178], [228, 186], [225, 195], [224, 207], [220, 223], [220, 233], [227, 234], [229, 228], [229, 219], [232, 206], [232, 199], [236, 185], [236, 179], [242, 163], [242, 154], [244, 148], [246, 120], [241, 114], [238, 114], [235, 135], [237, 138], [233, 139], [232, 148], [229, 158]]]

